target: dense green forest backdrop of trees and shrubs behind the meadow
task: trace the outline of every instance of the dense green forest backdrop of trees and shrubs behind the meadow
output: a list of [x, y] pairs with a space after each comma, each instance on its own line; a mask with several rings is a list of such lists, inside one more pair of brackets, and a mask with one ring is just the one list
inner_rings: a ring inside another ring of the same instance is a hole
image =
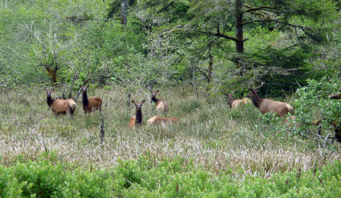
[[[126, 4], [126, 7], [123, 6]], [[128, 6], [127, 6], [128, 5]], [[0, 86], [267, 82], [272, 95], [334, 74], [337, 2], [20, 0], [0, 5]], [[127, 25], [125, 24], [125, 20]], [[238, 25], [239, 24], [239, 25]]]

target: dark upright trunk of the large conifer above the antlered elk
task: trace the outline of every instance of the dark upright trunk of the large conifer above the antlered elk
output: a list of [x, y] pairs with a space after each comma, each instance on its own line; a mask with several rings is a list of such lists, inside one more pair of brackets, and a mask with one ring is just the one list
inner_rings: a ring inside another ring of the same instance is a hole
[[236, 0], [236, 19], [234, 23], [236, 27], [236, 51], [244, 53], [244, 41], [243, 41], [243, 10], [242, 1]]

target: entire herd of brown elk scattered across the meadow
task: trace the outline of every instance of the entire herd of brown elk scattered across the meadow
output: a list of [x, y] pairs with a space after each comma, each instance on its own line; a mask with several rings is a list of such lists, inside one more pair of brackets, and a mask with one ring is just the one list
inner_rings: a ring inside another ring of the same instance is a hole
[[[249, 94], [246, 96], [247, 98], [244, 99], [233, 99], [233, 94], [235, 94], [235, 90], [231, 94], [226, 94], [223, 90], [222, 92], [226, 95], [228, 100], [228, 105], [231, 109], [237, 108], [239, 105], [251, 103], [251, 101], [255, 104], [257, 108], [259, 108], [260, 112], [262, 114], [265, 114], [267, 112], [273, 112], [276, 114], [276, 116], [285, 117], [288, 112], [291, 114], [294, 113], [294, 109], [292, 106], [290, 106], [288, 103], [280, 102], [280, 101], [274, 101], [271, 99], [261, 99], [257, 91], [259, 88], [261, 88], [265, 83], [261, 83], [261, 85], [257, 88], [252, 88], [252, 84], [249, 84], [248, 89], [250, 90]], [[89, 88], [89, 85], [87, 87], [82, 87], [82, 104], [83, 104], [83, 110], [85, 114], [88, 114], [94, 110], [101, 111], [102, 106], [102, 100], [97, 97], [87, 97], [87, 89]], [[52, 99], [51, 93], [54, 91], [47, 91], [44, 89], [47, 95], [47, 105], [51, 108], [54, 115], [60, 115], [60, 114], [69, 114], [70, 116], [73, 115], [75, 109], [76, 109], [76, 102], [72, 99]], [[159, 92], [157, 90], [156, 92], [151, 92], [151, 102], [155, 102], [156, 109], [166, 113], [169, 109], [168, 104], [163, 99], [157, 99], [156, 94]], [[131, 100], [131, 102], [135, 105], [135, 115], [131, 117], [129, 120], [128, 126], [130, 128], [133, 128], [135, 126], [141, 126], [145, 125], [144, 119], [142, 117], [142, 104], [145, 102], [145, 100], [142, 100], [142, 102], [135, 102], [134, 100]], [[295, 119], [295, 116], [291, 116], [291, 119]], [[288, 120], [285, 121], [286, 123]], [[181, 123], [181, 121], [177, 118], [167, 118], [167, 117], [161, 117], [161, 116], [154, 116], [150, 118], [147, 121], [148, 125], [152, 124], [162, 124], [162, 123]]]

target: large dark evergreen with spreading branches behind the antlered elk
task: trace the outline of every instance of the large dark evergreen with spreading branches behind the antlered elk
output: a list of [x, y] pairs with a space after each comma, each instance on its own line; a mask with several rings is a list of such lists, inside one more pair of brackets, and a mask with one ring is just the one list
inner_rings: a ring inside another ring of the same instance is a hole
[[[191, 33], [188, 35], [193, 40], [200, 39], [202, 52], [210, 46], [211, 53], [232, 61], [233, 75], [249, 81], [278, 82], [279, 89], [287, 91], [295, 82], [292, 77], [301, 78], [299, 82], [311, 77], [306, 60], [314, 56], [313, 45], [328, 42], [330, 20], [337, 16], [331, 0], [193, 0], [189, 5], [193, 17], [172, 25], [173, 29]], [[267, 44], [259, 45], [264, 35], [271, 34], [282, 41], [272, 37]], [[201, 53], [197, 57], [211, 59]]]

